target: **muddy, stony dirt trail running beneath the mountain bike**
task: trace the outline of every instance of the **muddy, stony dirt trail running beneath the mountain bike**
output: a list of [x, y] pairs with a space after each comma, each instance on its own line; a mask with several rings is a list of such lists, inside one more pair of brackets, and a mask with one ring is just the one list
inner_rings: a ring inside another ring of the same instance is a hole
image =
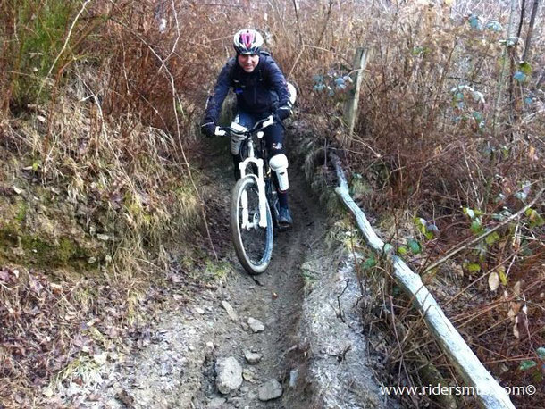
[[[386, 407], [362, 363], [355, 282], [348, 289], [353, 297], [343, 305], [346, 320], [331, 308], [338, 302], [335, 291], [346, 290], [348, 280], [345, 287], [339, 255], [325, 249], [327, 218], [306, 185], [302, 163], [290, 164], [294, 226], [275, 233], [268, 270], [249, 276], [231, 246], [231, 160], [220, 154], [227, 146], [212, 145], [199, 169], [201, 193], [215, 251], [234, 272], [189, 304], [162, 313], [147, 333], [128, 341], [126, 355], [105, 363], [85, 388], [64, 390], [64, 398], [72, 395], [79, 407], [104, 408]], [[306, 300], [309, 274], [319, 288], [314, 301]], [[311, 361], [319, 363], [314, 374]]]

